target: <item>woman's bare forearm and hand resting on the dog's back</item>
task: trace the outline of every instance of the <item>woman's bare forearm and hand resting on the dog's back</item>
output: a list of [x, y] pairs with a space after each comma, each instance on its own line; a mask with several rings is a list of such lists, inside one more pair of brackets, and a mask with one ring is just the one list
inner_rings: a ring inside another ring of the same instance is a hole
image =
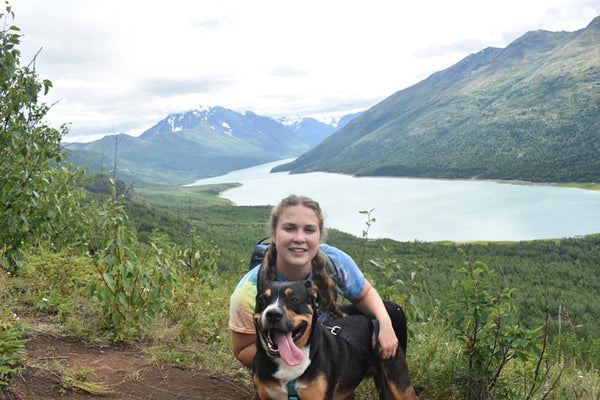
[[362, 292], [354, 300], [354, 305], [363, 314], [376, 318], [379, 321], [379, 346], [381, 347], [381, 358], [392, 358], [398, 349], [398, 338], [392, 326], [390, 315], [381, 300], [381, 296], [369, 281], [365, 281]]

